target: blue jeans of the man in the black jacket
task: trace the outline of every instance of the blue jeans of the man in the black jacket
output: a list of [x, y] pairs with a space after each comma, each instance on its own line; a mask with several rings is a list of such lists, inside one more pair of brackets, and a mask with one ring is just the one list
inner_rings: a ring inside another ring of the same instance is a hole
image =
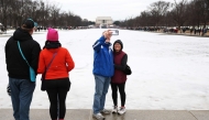
[[15, 120], [29, 120], [29, 111], [35, 89], [35, 83], [29, 79], [9, 78], [13, 117]]

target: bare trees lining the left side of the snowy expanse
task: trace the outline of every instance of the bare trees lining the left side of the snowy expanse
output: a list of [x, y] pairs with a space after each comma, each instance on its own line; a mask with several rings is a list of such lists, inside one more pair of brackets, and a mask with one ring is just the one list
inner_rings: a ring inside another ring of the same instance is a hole
[[45, 0], [0, 0], [0, 22], [7, 26], [20, 26], [24, 19], [32, 18], [40, 26], [87, 26], [91, 21], [70, 11], [62, 11], [58, 3]]

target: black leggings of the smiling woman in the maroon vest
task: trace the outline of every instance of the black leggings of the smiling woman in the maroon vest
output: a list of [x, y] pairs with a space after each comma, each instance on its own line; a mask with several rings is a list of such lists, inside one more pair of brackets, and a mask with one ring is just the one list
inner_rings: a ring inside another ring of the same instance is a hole
[[112, 88], [112, 100], [113, 100], [114, 106], [118, 106], [118, 89], [119, 89], [120, 97], [121, 97], [121, 107], [124, 107], [124, 103], [125, 103], [125, 91], [124, 91], [125, 83], [123, 83], [123, 84], [111, 83], [111, 88]]

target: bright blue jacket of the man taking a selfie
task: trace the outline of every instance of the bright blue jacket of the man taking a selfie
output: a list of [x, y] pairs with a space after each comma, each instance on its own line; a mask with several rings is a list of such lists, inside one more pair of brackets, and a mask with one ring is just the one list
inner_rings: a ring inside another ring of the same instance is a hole
[[106, 43], [105, 36], [101, 36], [92, 45], [94, 53], [94, 69], [95, 75], [112, 77], [114, 73], [113, 67], [113, 53], [111, 50], [111, 43]]

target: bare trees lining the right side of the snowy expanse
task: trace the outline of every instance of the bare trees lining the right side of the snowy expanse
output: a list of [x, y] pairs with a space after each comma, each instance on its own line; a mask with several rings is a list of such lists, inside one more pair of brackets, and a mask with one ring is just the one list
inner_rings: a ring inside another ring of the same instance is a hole
[[182, 0], [174, 3], [156, 1], [150, 4], [135, 18], [116, 21], [114, 24], [128, 28], [169, 28], [169, 26], [204, 26], [209, 24], [209, 0]]

